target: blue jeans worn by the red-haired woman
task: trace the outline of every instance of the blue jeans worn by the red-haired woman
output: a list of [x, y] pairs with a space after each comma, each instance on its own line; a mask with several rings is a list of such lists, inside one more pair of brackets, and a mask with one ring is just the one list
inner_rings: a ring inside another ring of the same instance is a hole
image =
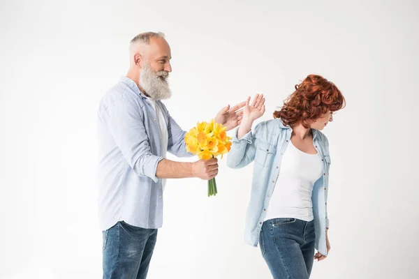
[[309, 278], [314, 262], [314, 221], [266, 220], [259, 236], [262, 256], [274, 279]]

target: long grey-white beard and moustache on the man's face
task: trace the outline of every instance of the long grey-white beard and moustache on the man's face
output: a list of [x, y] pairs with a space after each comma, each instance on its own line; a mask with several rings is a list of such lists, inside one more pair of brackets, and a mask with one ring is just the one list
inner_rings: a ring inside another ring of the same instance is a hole
[[150, 98], [153, 100], [164, 100], [172, 96], [172, 91], [167, 81], [169, 73], [166, 70], [154, 72], [145, 62], [140, 74], [140, 86]]

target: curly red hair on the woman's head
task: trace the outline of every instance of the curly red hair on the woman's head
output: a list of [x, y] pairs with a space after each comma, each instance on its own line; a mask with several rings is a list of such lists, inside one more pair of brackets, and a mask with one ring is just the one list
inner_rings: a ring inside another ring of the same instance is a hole
[[344, 106], [345, 98], [337, 86], [320, 75], [309, 75], [295, 85], [281, 110], [274, 112], [274, 118], [281, 118], [285, 125], [302, 122], [305, 128], [322, 114], [337, 112]]

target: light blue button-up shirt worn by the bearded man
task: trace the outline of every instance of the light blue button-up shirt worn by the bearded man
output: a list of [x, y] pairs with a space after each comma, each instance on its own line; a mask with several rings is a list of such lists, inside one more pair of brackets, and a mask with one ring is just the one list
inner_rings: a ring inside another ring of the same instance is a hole
[[[168, 152], [190, 157], [185, 132], [157, 101], [168, 123]], [[156, 177], [161, 154], [156, 112], [128, 77], [105, 93], [98, 108], [98, 218], [102, 230], [119, 220], [157, 229], [163, 223], [163, 186]]]

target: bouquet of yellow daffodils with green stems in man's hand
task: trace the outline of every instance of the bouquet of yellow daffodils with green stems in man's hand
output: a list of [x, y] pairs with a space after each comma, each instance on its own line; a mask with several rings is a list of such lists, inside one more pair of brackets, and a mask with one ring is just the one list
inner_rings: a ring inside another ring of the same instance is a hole
[[[198, 155], [199, 159], [209, 160], [228, 153], [231, 148], [231, 137], [227, 137], [227, 127], [216, 123], [214, 119], [198, 122], [185, 135], [186, 151]], [[216, 195], [215, 178], [208, 181], [208, 197]]]

